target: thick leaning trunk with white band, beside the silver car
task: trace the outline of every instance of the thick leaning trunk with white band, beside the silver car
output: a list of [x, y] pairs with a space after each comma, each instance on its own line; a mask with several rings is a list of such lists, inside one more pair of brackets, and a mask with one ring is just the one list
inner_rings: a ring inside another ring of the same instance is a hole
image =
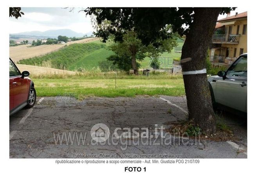
[[[195, 8], [195, 15], [182, 48], [183, 72], [206, 68], [206, 54], [220, 8]], [[184, 58], [191, 58], [183, 62]], [[215, 115], [206, 73], [183, 75], [189, 119], [193, 119], [207, 135], [215, 133]]]

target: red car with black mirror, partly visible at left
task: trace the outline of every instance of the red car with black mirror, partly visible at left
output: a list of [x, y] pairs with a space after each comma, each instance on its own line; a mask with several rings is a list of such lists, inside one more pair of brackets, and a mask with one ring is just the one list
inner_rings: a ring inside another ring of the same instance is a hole
[[10, 116], [23, 107], [32, 108], [36, 103], [34, 82], [28, 76], [28, 71], [20, 73], [9, 59]]

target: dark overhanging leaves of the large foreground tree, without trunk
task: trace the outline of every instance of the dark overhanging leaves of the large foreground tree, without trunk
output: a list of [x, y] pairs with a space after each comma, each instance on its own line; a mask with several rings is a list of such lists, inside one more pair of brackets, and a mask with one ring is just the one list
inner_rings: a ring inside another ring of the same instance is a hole
[[[235, 8], [222, 8], [220, 14], [230, 12]], [[165, 40], [171, 35], [163, 30], [166, 25], [171, 24], [173, 32], [183, 36], [188, 34], [193, 23], [194, 8], [166, 7], [166, 8], [87, 8], [87, 15], [95, 15], [97, 24], [109, 21], [109, 26], [99, 28], [96, 37], [103, 38], [106, 42], [109, 35], [115, 35], [116, 41], [122, 41], [124, 30], [134, 30], [143, 44], [152, 43], [158, 46], [157, 40]], [[183, 26], [186, 27], [183, 27]]]

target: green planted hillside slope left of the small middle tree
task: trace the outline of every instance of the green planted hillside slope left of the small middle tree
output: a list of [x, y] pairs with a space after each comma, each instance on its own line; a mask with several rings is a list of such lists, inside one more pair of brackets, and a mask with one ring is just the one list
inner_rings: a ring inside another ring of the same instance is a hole
[[44, 56], [22, 59], [18, 63], [75, 70], [75, 68], [79, 67], [97, 67], [98, 62], [106, 60], [111, 54], [113, 52], [108, 50], [107, 46], [103, 43], [72, 44]]

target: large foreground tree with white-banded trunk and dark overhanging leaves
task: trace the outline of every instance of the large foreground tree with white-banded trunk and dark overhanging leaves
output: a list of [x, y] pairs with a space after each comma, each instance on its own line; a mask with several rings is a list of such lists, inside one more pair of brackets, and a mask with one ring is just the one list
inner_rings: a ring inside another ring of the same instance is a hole
[[[173, 32], [186, 35], [181, 54], [183, 72], [206, 68], [206, 51], [213, 35], [219, 14], [235, 8], [87, 8], [87, 15], [95, 15], [97, 23], [104, 20], [111, 26], [101, 28], [94, 33], [106, 42], [110, 35], [116, 41], [123, 40], [122, 32], [136, 31], [142, 44], [158, 47], [156, 40], [168, 38], [168, 31], [163, 30], [171, 24]], [[187, 27], [183, 27], [183, 25]], [[186, 91], [189, 119], [199, 124], [206, 134], [216, 131], [215, 115], [211, 103], [206, 73], [183, 75]]]

